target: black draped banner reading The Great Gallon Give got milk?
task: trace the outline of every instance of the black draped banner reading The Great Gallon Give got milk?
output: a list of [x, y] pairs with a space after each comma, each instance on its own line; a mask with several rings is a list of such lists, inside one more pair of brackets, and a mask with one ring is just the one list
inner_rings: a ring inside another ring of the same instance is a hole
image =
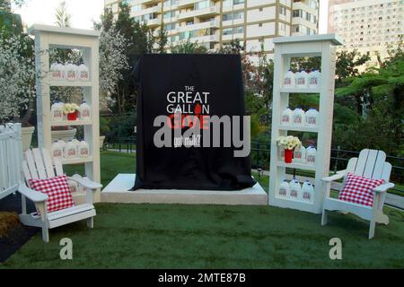
[[[136, 66], [134, 190], [252, 187], [241, 58], [146, 55]], [[241, 154], [236, 154], [236, 152]]]

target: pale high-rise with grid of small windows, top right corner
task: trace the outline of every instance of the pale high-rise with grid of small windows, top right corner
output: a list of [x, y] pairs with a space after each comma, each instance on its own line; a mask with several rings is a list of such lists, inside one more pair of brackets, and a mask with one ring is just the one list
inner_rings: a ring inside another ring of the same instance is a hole
[[397, 44], [404, 31], [403, 0], [331, 0], [329, 32], [345, 41], [342, 47], [369, 53], [365, 67], [377, 65], [377, 55], [388, 57], [386, 45]]

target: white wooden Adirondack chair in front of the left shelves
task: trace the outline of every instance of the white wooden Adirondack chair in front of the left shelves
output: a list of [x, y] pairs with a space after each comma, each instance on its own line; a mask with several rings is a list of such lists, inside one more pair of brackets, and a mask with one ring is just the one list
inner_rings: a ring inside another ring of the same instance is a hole
[[[68, 178], [69, 181], [76, 182], [79, 186], [86, 189], [86, 204], [76, 205], [75, 207], [66, 208], [54, 213], [47, 212], [48, 196], [29, 187], [29, 179], [46, 179], [63, 175], [62, 164], [59, 160], [50, 157], [50, 153], [46, 149], [33, 149], [25, 152], [25, 161], [22, 161], [22, 171], [25, 176], [26, 184], [21, 184], [19, 192], [22, 194], [22, 214], [20, 220], [22, 224], [28, 226], [40, 227], [42, 229], [42, 239], [49, 242], [49, 229], [59, 226], [87, 220], [89, 228], [93, 228], [93, 217], [96, 215], [94, 205], [92, 204], [92, 192], [101, 188], [98, 183], [92, 182], [88, 178], [82, 178], [75, 175]], [[27, 214], [26, 198], [30, 199], [40, 216], [35, 213]]]

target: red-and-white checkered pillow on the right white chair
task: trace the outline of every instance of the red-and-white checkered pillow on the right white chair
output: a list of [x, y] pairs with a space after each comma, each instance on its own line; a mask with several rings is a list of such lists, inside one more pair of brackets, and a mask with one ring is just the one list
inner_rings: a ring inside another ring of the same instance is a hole
[[348, 173], [347, 182], [339, 193], [339, 200], [373, 206], [373, 189], [384, 184], [384, 179], [370, 179]]

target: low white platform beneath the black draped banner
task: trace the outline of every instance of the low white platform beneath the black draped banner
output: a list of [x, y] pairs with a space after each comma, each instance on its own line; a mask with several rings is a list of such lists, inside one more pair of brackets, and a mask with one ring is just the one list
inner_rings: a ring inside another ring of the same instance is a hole
[[135, 174], [119, 174], [101, 193], [102, 203], [268, 205], [268, 195], [257, 184], [241, 191], [145, 190], [129, 191]]

